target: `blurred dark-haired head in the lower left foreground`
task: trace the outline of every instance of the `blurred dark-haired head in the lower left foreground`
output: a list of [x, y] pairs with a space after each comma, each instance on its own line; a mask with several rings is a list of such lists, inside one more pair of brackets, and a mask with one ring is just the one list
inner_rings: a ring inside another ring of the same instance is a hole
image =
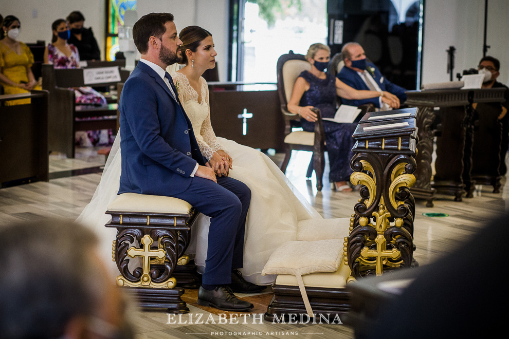
[[98, 239], [62, 220], [0, 227], [0, 333], [9, 338], [130, 337]]

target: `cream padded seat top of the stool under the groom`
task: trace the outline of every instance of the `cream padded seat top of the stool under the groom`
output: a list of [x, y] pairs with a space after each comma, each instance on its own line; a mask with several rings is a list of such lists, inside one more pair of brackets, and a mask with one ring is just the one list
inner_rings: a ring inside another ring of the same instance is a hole
[[108, 211], [189, 214], [191, 207], [188, 202], [177, 198], [122, 193], [108, 205]]

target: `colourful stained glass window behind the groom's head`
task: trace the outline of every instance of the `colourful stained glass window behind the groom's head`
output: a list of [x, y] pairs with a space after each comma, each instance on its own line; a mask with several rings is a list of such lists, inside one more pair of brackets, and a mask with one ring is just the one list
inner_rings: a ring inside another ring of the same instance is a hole
[[136, 10], [137, 0], [106, 0], [108, 16], [106, 18], [106, 60], [114, 61], [118, 47], [118, 27], [124, 23], [124, 13]]

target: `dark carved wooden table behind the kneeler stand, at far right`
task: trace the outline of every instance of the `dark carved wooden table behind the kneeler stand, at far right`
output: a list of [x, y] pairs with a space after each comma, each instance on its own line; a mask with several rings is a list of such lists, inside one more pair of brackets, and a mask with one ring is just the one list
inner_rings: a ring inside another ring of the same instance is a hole
[[[419, 154], [417, 181], [412, 188], [415, 197], [429, 194], [428, 205], [432, 206], [433, 189], [439, 193], [452, 194], [461, 201], [467, 193], [471, 196], [474, 180], [471, 177], [472, 146], [474, 145], [474, 119], [472, 103], [503, 101], [503, 89], [453, 89], [408, 91], [406, 104], [419, 108]], [[435, 117], [441, 125], [437, 133], [437, 159], [433, 183], [431, 184], [431, 155], [435, 131]], [[431, 187], [432, 186], [432, 187]]]

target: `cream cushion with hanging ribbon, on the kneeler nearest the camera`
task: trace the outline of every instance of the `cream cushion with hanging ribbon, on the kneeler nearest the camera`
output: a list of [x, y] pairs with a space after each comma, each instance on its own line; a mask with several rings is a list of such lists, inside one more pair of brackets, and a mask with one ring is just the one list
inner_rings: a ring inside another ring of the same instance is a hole
[[262, 275], [333, 272], [343, 257], [343, 240], [287, 241], [274, 251]]

